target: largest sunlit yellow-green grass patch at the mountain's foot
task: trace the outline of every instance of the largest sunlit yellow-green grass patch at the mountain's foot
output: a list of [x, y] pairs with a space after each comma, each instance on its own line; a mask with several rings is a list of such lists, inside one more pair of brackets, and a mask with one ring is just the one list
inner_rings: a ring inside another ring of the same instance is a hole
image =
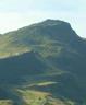
[[25, 105], [75, 105], [72, 101], [62, 101], [53, 98], [50, 93], [33, 91], [33, 90], [17, 90], [23, 97]]

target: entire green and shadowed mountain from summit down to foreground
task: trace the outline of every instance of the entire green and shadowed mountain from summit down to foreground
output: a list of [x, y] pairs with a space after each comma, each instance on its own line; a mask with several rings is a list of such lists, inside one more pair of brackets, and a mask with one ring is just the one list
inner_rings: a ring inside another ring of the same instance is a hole
[[58, 105], [58, 100], [63, 103], [59, 105], [86, 105], [85, 80], [86, 40], [70, 23], [46, 20], [0, 36], [1, 90], [10, 91], [8, 97], [19, 102], [17, 105], [21, 101], [15, 98], [22, 95], [30, 98], [29, 94], [40, 97], [50, 94], [45, 105]]

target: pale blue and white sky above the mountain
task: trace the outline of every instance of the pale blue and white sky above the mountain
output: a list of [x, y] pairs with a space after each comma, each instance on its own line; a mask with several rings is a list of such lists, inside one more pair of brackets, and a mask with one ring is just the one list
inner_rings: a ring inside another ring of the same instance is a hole
[[69, 22], [86, 37], [86, 0], [0, 0], [0, 33], [47, 19]]

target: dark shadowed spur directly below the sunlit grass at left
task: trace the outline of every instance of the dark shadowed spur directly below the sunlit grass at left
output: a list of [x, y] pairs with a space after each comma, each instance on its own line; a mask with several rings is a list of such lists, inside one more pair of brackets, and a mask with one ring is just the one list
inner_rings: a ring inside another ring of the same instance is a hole
[[0, 83], [21, 83], [25, 75], [38, 75], [47, 72], [49, 67], [30, 51], [0, 60]]

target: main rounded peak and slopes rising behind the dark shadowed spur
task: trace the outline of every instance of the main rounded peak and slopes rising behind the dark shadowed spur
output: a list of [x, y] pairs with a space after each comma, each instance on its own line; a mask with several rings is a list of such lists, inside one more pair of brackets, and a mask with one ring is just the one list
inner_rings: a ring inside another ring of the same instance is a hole
[[85, 78], [86, 43], [66, 22], [46, 20], [7, 33], [1, 36], [0, 45], [1, 57], [34, 50], [48, 63], [52, 63], [52, 67], [71, 71], [76, 75], [78, 73]]

